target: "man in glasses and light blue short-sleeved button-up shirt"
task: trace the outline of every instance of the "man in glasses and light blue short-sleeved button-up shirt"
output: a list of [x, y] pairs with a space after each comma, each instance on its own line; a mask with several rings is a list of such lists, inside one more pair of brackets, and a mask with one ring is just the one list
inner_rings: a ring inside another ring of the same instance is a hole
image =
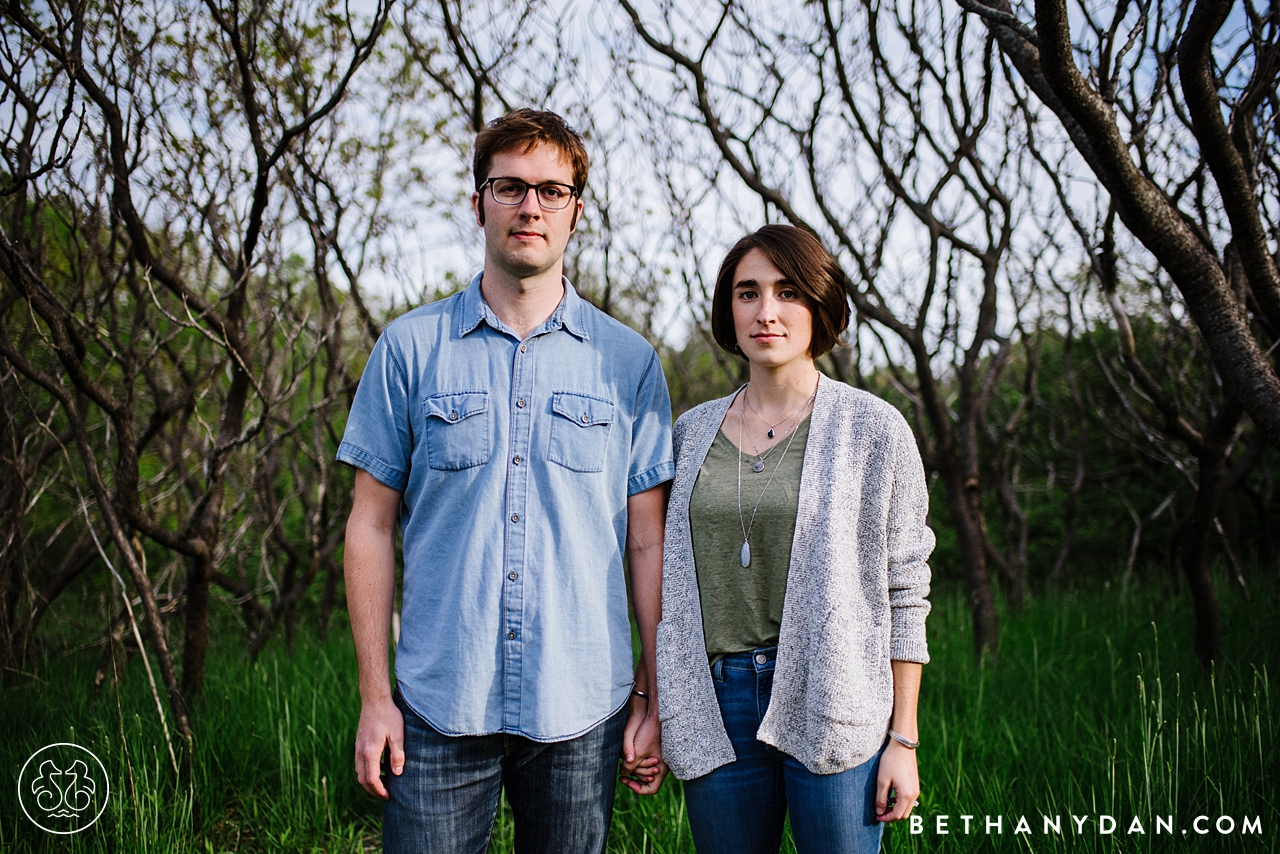
[[484, 270], [387, 328], [338, 448], [357, 469], [356, 773], [387, 802], [389, 853], [486, 850], [502, 789], [522, 854], [603, 851], [620, 754], [641, 794], [666, 772], [648, 675], [671, 401], [653, 348], [562, 275], [586, 186], [581, 137], [553, 113], [516, 110], [476, 137], [474, 170]]

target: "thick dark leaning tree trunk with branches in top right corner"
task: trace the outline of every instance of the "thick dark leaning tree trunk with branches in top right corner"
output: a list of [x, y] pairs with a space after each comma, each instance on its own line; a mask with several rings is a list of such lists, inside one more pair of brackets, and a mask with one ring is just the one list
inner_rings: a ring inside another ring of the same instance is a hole
[[1057, 115], [1120, 222], [1176, 283], [1231, 398], [1280, 447], [1275, 5], [1123, 1], [1108, 15], [1036, 0], [1032, 26], [1006, 0], [959, 3]]

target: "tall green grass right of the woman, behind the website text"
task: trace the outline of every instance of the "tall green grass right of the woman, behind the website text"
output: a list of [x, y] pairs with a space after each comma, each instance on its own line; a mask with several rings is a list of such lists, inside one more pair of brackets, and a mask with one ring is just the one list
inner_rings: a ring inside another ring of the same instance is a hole
[[[963, 602], [941, 598], [920, 709], [923, 832], [895, 826], [888, 850], [1280, 850], [1277, 608], [1234, 592], [1222, 604], [1224, 656], [1206, 672], [1185, 600], [1123, 603], [1103, 589], [1038, 602], [1005, 615], [998, 661], [974, 662]], [[950, 834], [937, 832], [938, 816]], [[1002, 832], [987, 834], [988, 816]], [[1044, 832], [1046, 816], [1061, 834]], [[1082, 831], [1073, 816], [1088, 817]], [[1101, 816], [1114, 832], [1101, 832]], [[1233, 834], [1215, 830], [1222, 816]], [[1021, 817], [1029, 834], [1014, 832]], [[1157, 817], [1171, 834], [1157, 834]], [[1242, 834], [1245, 817], [1260, 834]]]

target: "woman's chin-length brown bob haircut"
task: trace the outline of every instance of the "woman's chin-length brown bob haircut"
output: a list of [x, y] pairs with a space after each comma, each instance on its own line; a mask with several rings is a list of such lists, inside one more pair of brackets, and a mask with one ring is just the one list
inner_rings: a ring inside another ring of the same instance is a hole
[[845, 271], [813, 232], [794, 225], [765, 225], [740, 239], [724, 256], [712, 296], [712, 335], [716, 343], [731, 353], [742, 355], [733, 330], [733, 278], [739, 262], [751, 250], [764, 252], [773, 266], [805, 296], [813, 312], [809, 357], [818, 359], [831, 352], [840, 333], [849, 328]]

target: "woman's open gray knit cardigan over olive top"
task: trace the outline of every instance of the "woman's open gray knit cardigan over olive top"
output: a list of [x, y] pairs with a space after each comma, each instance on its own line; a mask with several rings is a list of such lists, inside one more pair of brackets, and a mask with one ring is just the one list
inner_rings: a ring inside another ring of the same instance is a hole
[[[689, 498], [733, 396], [676, 421], [658, 624], [663, 757], [681, 780], [735, 761], [703, 638]], [[800, 476], [773, 695], [756, 737], [814, 773], [869, 759], [893, 709], [891, 659], [929, 661], [933, 531], [924, 467], [902, 416], [820, 376]]]

